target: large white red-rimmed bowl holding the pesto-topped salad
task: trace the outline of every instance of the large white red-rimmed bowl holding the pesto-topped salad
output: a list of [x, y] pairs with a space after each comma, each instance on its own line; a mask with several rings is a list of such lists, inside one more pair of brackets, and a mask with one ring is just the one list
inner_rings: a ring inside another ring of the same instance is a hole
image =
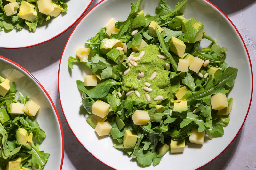
[[[177, 1], [167, 0], [173, 9]], [[131, 10], [131, 3], [135, 0], [105, 0], [94, 6], [71, 33], [60, 60], [59, 67], [59, 97], [63, 113], [68, 125], [77, 140], [94, 157], [104, 164], [122, 170], [143, 169], [136, 161], [129, 158], [122, 151], [113, 148], [110, 137], [97, 137], [94, 129], [86, 122], [81, 107], [81, 94], [76, 87], [76, 80], [83, 81], [86, 68], [81, 64], [74, 64], [74, 69], [68, 68], [68, 57], [75, 57], [76, 48], [84, 47], [90, 39], [111, 18], [116, 21], [126, 20]], [[156, 0], [141, 0], [140, 10], [151, 15], [155, 14], [158, 5]], [[145, 169], [197, 169], [219, 156], [235, 139], [242, 128], [248, 114], [252, 99], [252, 66], [246, 46], [236, 27], [228, 17], [216, 6], [206, 0], [189, 0], [184, 12], [185, 18], [196, 18], [204, 24], [205, 33], [214, 38], [221, 47], [226, 47], [226, 62], [228, 66], [238, 68], [235, 85], [228, 97], [233, 97], [234, 104], [230, 113], [230, 123], [223, 137], [206, 140], [202, 147], [190, 144], [185, 147], [183, 154], [165, 154], [157, 166]], [[90, 25], [90, 26], [88, 26]], [[202, 46], [208, 45], [202, 41]]]

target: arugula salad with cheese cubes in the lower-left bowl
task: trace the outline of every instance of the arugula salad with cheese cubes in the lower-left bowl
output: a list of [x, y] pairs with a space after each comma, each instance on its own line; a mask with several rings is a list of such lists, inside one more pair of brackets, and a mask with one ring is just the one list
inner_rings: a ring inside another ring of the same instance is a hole
[[0, 76], [0, 169], [42, 169], [50, 154], [39, 150], [46, 135], [35, 115], [40, 108], [16, 84]]

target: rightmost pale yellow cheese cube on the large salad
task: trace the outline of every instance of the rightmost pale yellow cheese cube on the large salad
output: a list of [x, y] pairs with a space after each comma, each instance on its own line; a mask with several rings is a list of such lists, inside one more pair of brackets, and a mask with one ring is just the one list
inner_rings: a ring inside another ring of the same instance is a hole
[[228, 107], [226, 94], [217, 93], [211, 97], [211, 105], [214, 110], [221, 110]]

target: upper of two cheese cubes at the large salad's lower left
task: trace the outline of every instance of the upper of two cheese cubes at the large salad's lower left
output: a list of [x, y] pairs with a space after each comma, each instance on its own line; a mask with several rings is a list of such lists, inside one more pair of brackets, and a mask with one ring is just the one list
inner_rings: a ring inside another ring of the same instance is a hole
[[101, 118], [104, 118], [109, 113], [110, 105], [98, 99], [92, 104], [92, 113]]

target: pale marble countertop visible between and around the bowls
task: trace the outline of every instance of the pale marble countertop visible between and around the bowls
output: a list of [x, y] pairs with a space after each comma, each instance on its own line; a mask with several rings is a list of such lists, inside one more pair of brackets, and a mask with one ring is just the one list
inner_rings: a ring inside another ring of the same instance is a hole
[[[253, 73], [256, 66], [256, 1], [255, 0], [210, 0], [220, 8], [234, 23], [248, 48], [252, 62]], [[92, 2], [90, 8], [99, 0]], [[89, 9], [90, 9], [89, 8]], [[44, 86], [51, 96], [60, 115], [64, 133], [64, 161], [63, 170], [97, 169], [108, 170], [108, 166], [102, 164], [88, 153], [76, 140], [68, 127], [60, 107], [58, 96], [58, 67], [64, 45], [74, 26], [55, 39], [43, 44], [21, 49], [0, 49], [0, 55], [11, 59], [28, 70]], [[254, 87], [254, 86], [253, 86]], [[256, 112], [255, 92], [252, 96], [252, 104], [240, 133], [232, 144], [216, 159], [202, 167], [200, 170], [215, 169], [256, 169]]]

